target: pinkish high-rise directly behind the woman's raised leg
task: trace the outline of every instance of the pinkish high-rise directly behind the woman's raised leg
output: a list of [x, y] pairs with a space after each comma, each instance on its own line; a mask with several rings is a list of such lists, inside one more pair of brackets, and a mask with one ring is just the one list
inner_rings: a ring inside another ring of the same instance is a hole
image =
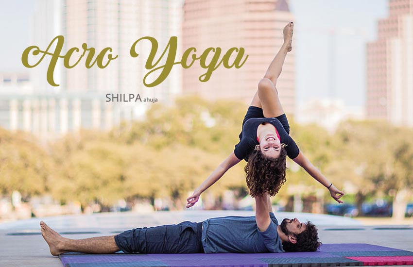
[[[208, 82], [198, 80], [206, 69], [196, 61], [192, 67], [183, 70], [183, 92], [209, 100], [230, 99], [249, 103], [258, 81], [283, 44], [282, 30], [290, 21], [294, 21], [294, 17], [286, 0], [185, 0], [184, 50], [195, 47], [199, 57], [208, 47], [220, 47], [221, 60], [228, 49], [243, 47], [248, 58], [239, 69], [227, 69], [221, 65]], [[287, 113], [293, 113], [295, 108], [294, 51], [293, 48], [287, 55], [276, 85]], [[211, 58], [209, 55], [206, 62]], [[230, 64], [234, 58], [235, 53]]]

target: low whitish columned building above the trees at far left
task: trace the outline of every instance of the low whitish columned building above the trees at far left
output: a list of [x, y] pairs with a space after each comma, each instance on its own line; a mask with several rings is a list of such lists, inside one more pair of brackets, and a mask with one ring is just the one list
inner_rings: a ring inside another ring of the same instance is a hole
[[[112, 110], [82, 110], [85, 103], [100, 101], [95, 95], [36, 91], [28, 73], [0, 73], [0, 127], [24, 131], [42, 140], [75, 132], [80, 127], [104, 130], [112, 126]], [[37, 80], [38, 82], [39, 80]], [[38, 83], [37, 83], [38, 84]]]

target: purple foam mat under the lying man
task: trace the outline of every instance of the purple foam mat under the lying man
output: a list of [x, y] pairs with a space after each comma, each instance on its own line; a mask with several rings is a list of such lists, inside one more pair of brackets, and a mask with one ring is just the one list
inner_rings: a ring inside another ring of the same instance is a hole
[[[316, 252], [217, 254], [62, 254], [65, 267], [282, 267], [362, 266], [349, 259], [351, 251], [404, 251], [369, 244], [325, 244]], [[348, 252], [346, 257], [331, 252]]]

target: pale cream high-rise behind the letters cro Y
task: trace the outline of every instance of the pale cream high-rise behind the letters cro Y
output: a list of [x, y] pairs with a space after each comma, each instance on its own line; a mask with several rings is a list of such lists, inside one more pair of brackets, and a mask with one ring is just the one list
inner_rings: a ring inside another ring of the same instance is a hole
[[139, 42], [138, 58], [131, 57], [130, 50], [139, 38], [152, 36], [158, 42], [156, 59], [160, 57], [170, 36], [181, 35], [181, 5], [180, 0], [63, 0], [66, 49], [87, 43], [96, 53], [110, 47], [113, 55], [119, 55], [104, 69], [94, 66], [86, 70], [84, 61], [83, 66], [65, 69], [66, 90], [141, 93], [171, 100], [171, 95], [180, 91], [180, 81], [173, 79], [172, 73], [154, 88], [143, 85], [149, 71], [145, 63], [152, 48], [150, 42]]

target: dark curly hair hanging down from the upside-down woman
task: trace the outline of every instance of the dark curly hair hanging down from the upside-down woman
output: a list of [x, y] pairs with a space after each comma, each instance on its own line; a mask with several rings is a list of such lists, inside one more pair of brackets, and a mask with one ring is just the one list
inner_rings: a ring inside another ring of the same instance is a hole
[[283, 147], [276, 159], [266, 158], [259, 149], [250, 154], [244, 170], [252, 197], [262, 196], [263, 193], [275, 196], [278, 193], [286, 181], [286, 158], [287, 151]]

